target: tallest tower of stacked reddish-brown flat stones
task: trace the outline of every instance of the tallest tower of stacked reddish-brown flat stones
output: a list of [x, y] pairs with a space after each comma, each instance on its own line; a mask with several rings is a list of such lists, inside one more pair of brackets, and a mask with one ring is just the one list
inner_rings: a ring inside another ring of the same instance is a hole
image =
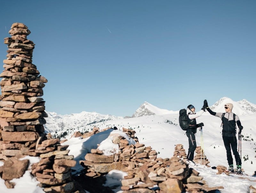
[[47, 117], [41, 98], [47, 80], [32, 64], [35, 44], [27, 39], [30, 31], [24, 24], [14, 23], [9, 33], [12, 37], [4, 39], [8, 54], [0, 74], [0, 160], [16, 155], [37, 156], [36, 140], [45, 136]]

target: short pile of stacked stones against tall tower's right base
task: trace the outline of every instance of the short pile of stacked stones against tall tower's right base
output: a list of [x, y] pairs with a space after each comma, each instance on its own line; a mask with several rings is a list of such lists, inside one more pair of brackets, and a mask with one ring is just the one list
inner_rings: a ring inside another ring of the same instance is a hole
[[73, 155], [68, 155], [68, 145], [60, 145], [59, 139], [37, 140], [36, 152], [42, 158], [32, 165], [32, 174], [45, 192], [71, 192], [75, 189], [71, 179], [71, 167], [76, 165]]

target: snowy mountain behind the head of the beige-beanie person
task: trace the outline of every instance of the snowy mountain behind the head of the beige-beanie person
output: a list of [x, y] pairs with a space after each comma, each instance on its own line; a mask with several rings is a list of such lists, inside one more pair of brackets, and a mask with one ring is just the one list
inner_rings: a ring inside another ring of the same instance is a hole
[[[251, 102], [243, 99], [240, 101], [233, 101], [228, 97], [223, 97], [217, 102], [215, 102], [210, 108], [214, 112], [225, 112], [224, 105], [227, 103], [233, 104], [232, 112], [236, 115], [251, 115], [256, 113], [256, 105], [252, 104]], [[209, 104], [210, 105], [210, 104]]]

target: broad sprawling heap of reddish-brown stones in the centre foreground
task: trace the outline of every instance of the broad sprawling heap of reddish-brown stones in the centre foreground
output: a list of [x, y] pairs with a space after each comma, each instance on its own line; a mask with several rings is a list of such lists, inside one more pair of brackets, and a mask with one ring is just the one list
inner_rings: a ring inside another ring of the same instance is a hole
[[[134, 136], [135, 131], [123, 128], [129, 136]], [[113, 169], [126, 172], [128, 175], [121, 181], [121, 189], [124, 193], [129, 192], [172, 192], [181, 193], [210, 191], [216, 187], [209, 188], [203, 182], [203, 177], [193, 168], [180, 160], [178, 157], [157, 158], [157, 152], [150, 146], [140, 144], [136, 139], [135, 145], [129, 145], [127, 139], [119, 134], [110, 134], [113, 143], [118, 144], [118, 153], [106, 156], [99, 149], [92, 149], [91, 153], [85, 155], [85, 160], [80, 160], [80, 164], [85, 167], [85, 175], [89, 177], [99, 177], [107, 174]], [[150, 189], [154, 185], [158, 190]], [[222, 188], [222, 187], [218, 187]]]

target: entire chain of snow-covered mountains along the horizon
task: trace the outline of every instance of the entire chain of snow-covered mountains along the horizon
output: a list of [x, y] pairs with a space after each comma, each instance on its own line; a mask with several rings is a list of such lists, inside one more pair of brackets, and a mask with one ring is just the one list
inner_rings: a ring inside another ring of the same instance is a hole
[[[233, 101], [228, 97], [223, 97], [217, 102], [215, 102], [210, 108], [214, 112], [225, 112], [224, 105], [226, 103], [232, 103], [234, 105], [233, 112], [237, 115], [251, 115], [256, 114], [256, 105], [250, 103], [247, 100]], [[210, 104], [209, 104], [210, 105]], [[207, 112], [208, 113], [208, 112]], [[125, 118], [136, 118], [141, 116], [149, 115], [168, 115], [168, 114], [179, 114], [179, 111], [172, 111], [158, 108], [148, 102], [144, 102], [140, 107], [134, 112], [132, 117]], [[114, 115], [101, 115], [96, 112], [81, 112], [74, 113], [71, 115], [58, 115], [56, 113], [47, 112], [48, 117], [46, 119], [46, 124], [44, 125], [46, 132], [57, 132], [57, 131], [67, 131], [76, 130], [77, 128], [85, 128], [86, 125], [95, 124], [99, 122], [105, 122], [108, 120], [124, 119], [123, 117], [116, 117]]]

